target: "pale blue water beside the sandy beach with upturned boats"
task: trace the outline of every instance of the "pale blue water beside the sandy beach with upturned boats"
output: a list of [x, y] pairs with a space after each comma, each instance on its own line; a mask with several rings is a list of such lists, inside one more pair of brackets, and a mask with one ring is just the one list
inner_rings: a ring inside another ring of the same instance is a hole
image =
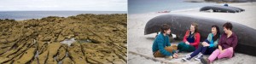
[[128, 0], [129, 14], [144, 14], [160, 11], [201, 8], [217, 3], [189, 3], [185, 0]]

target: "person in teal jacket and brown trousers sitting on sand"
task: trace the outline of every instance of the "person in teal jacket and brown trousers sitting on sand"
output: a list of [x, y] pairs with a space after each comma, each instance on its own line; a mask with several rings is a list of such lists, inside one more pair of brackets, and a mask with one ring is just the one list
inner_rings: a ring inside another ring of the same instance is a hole
[[154, 39], [152, 46], [154, 57], [166, 57], [167, 59], [177, 58], [177, 45], [172, 45], [168, 34], [171, 33], [170, 26], [164, 24], [161, 26], [160, 34]]

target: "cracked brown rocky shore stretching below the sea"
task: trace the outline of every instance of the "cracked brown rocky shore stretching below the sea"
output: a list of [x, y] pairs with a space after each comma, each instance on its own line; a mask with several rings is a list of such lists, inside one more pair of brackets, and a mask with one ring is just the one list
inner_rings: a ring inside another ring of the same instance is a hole
[[[0, 64], [127, 63], [126, 16], [0, 20]], [[72, 44], [61, 43], [71, 38]]]

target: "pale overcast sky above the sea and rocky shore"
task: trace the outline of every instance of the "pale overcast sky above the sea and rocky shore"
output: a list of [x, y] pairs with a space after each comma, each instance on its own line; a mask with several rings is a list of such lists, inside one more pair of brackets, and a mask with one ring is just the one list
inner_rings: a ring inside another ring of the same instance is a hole
[[1, 0], [0, 11], [127, 11], [127, 0]]

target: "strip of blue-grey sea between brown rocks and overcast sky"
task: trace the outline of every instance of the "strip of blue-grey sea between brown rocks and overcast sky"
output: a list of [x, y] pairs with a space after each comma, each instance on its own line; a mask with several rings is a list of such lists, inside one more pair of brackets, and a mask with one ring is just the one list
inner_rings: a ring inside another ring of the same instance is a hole
[[0, 11], [0, 19], [29, 20], [41, 19], [48, 16], [68, 17], [81, 14], [127, 14], [127, 11]]

